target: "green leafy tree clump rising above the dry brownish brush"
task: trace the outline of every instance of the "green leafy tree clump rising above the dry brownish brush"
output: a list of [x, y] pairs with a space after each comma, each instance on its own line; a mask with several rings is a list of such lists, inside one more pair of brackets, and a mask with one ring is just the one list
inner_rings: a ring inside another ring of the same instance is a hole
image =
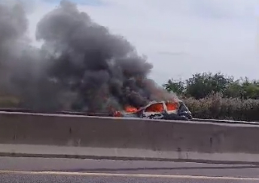
[[163, 87], [177, 95], [202, 99], [211, 93], [221, 93], [227, 98], [259, 99], [259, 81], [250, 81], [247, 77], [234, 80], [221, 72], [197, 73], [185, 82], [169, 79]]

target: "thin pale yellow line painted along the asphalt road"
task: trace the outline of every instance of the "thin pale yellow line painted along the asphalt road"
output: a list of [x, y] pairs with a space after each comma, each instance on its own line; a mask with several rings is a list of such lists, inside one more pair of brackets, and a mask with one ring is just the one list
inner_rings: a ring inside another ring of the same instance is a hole
[[259, 181], [252, 177], [219, 177], [219, 176], [190, 176], [190, 175], [156, 175], [156, 174], [124, 174], [124, 173], [81, 173], [81, 172], [52, 172], [52, 171], [17, 171], [0, 170], [0, 174], [27, 174], [27, 175], [67, 175], [67, 176], [105, 176], [105, 177], [132, 177], [132, 178], [168, 178], [168, 179], [210, 179], [210, 180], [245, 180]]

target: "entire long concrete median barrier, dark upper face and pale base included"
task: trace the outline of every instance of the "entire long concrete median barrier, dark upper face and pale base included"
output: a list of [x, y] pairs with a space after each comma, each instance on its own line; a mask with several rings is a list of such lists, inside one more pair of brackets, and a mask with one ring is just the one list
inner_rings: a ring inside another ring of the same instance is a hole
[[258, 125], [0, 112], [2, 155], [257, 163], [258, 139]]

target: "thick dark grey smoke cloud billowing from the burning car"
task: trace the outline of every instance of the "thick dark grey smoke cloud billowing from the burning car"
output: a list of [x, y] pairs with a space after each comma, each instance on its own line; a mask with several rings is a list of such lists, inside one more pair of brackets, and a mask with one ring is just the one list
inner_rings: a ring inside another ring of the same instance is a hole
[[147, 78], [152, 64], [120, 35], [62, 1], [38, 22], [41, 49], [28, 44], [21, 4], [0, 6], [1, 89], [35, 110], [107, 111], [172, 99]]

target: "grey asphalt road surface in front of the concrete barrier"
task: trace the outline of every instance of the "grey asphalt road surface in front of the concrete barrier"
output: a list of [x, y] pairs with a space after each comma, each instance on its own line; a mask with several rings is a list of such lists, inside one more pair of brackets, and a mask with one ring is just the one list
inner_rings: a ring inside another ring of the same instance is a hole
[[56, 158], [0, 158], [0, 182], [259, 182], [253, 165]]

